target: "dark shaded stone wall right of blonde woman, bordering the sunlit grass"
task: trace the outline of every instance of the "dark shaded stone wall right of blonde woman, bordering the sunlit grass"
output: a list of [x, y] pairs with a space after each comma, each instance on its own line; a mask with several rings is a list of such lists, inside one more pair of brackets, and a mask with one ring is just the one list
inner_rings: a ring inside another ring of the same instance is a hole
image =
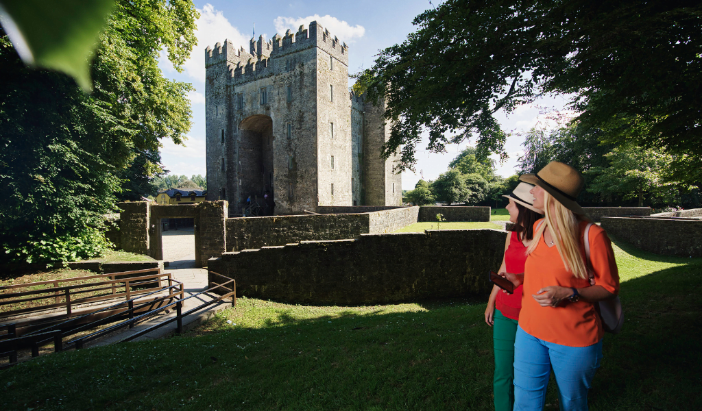
[[702, 221], [602, 217], [602, 228], [637, 248], [656, 254], [702, 257]]

